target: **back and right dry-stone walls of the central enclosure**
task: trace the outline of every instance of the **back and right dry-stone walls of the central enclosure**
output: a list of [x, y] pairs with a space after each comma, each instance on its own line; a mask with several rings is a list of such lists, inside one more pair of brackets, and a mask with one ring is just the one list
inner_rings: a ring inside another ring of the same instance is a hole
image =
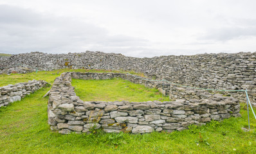
[[[199, 103], [207, 98], [215, 96], [234, 96], [235, 98], [246, 98], [244, 92], [223, 92], [208, 91], [201, 89], [192, 89], [190, 87], [181, 87], [173, 83], [161, 80], [149, 80], [149, 78], [124, 73], [77, 73], [71, 72], [72, 78], [84, 80], [104, 80], [111, 78], [123, 78], [136, 84], [145, 85], [145, 87], [158, 89], [164, 96], [169, 96], [170, 100], [186, 99], [193, 103]], [[221, 94], [219, 94], [221, 93]], [[217, 95], [215, 95], [217, 94]], [[239, 95], [239, 96], [237, 96]], [[242, 101], [239, 99], [239, 101]]]

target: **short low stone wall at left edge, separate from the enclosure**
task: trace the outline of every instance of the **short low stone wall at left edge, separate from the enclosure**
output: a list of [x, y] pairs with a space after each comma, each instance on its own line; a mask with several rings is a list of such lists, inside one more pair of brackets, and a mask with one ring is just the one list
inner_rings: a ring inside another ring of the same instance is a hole
[[33, 80], [0, 87], [0, 107], [6, 106], [14, 101], [21, 101], [21, 98], [41, 89], [46, 84], [47, 82], [44, 80]]

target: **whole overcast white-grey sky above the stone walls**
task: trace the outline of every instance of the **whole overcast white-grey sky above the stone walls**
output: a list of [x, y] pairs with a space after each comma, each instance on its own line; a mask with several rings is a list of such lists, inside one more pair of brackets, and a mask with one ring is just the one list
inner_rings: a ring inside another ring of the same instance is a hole
[[256, 51], [251, 0], [0, 0], [0, 53]]

